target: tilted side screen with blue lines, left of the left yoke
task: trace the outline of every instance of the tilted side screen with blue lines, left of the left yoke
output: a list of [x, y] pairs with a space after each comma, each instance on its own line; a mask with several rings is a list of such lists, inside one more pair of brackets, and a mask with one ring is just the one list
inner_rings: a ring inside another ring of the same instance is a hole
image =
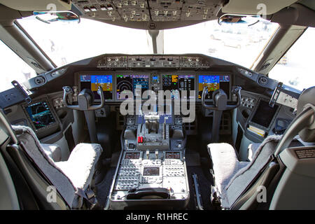
[[51, 125], [55, 123], [56, 120], [48, 107], [47, 102], [38, 102], [36, 104], [31, 104], [26, 108], [29, 117], [33, 125], [35, 126], [36, 130]]

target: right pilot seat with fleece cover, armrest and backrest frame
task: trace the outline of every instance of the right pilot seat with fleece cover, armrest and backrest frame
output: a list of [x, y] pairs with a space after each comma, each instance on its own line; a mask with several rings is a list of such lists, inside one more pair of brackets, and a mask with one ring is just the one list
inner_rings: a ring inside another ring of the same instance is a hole
[[[271, 183], [276, 176], [274, 172], [277, 165], [276, 157], [293, 144], [293, 139], [299, 138], [297, 134], [300, 134], [302, 141], [311, 143], [315, 141], [314, 95], [315, 87], [302, 92], [297, 103], [297, 116], [283, 135], [269, 136], [260, 145], [248, 147], [253, 152], [253, 155], [250, 155], [250, 162], [239, 161], [235, 148], [230, 144], [207, 146], [213, 165], [211, 171], [214, 175], [214, 186], [211, 186], [213, 202], [220, 204], [222, 209], [240, 209], [246, 203], [253, 204], [254, 200], [248, 202], [252, 197], [250, 195], [257, 195], [258, 186], [267, 186]], [[251, 193], [248, 193], [250, 190]], [[253, 209], [248, 204], [244, 207]]]

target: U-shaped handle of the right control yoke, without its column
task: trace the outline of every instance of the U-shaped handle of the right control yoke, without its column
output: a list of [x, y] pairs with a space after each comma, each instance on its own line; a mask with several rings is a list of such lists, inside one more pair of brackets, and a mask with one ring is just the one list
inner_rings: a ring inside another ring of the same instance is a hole
[[208, 94], [208, 86], [205, 86], [204, 90], [202, 91], [202, 106], [204, 106], [205, 109], [209, 109], [213, 111], [226, 111], [226, 110], [235, 109], [241, 104], [241, 87], [235, 87], [232, 90], [232, 94], [237, 95], [237, 104], [235, 105], [227, 104], [228, 96], [221, 89], [214, 91], [214, 93], [212, 94], [212, 99], [214, 99], [214, 104], [206, 104], [205, 99], [206, 99], [207, 94]]

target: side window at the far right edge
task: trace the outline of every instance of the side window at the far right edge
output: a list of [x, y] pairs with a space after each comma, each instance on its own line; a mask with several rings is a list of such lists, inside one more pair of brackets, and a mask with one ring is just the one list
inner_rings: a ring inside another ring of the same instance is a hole
[[269, 77], [303, 90], [315, 85], [315, 28], [309, 27], [269, 71]]

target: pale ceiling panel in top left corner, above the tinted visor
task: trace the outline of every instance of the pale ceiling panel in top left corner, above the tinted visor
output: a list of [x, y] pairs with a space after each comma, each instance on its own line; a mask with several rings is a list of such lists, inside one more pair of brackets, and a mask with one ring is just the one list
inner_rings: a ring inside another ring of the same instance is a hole
[[0, 3], [20, 11], [71, 10], [71, 0], [0, 0]]

